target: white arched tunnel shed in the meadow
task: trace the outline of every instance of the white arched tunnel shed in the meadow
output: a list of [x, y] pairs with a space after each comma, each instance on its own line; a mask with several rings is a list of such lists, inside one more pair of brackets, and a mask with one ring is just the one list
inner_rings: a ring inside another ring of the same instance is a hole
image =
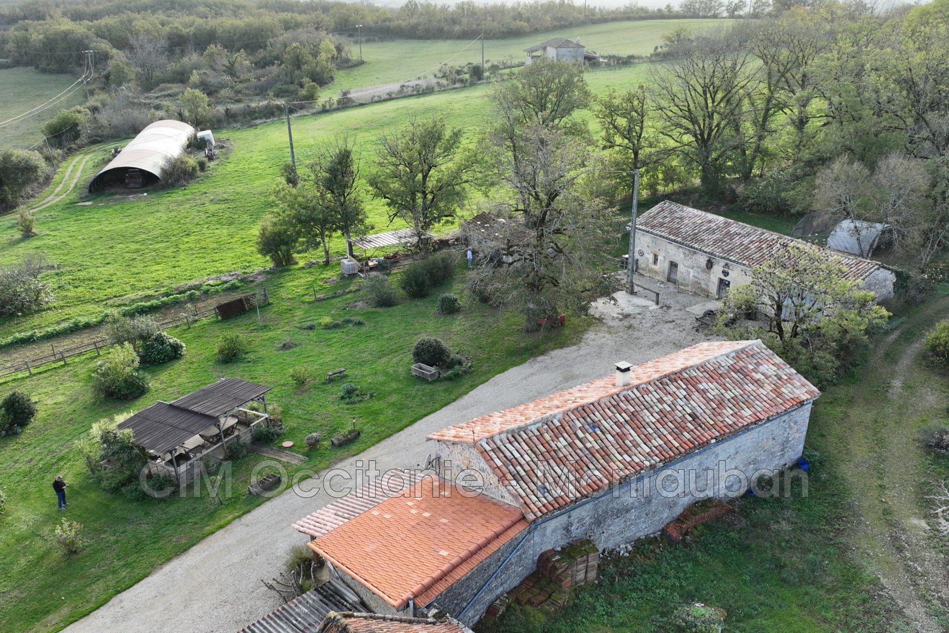
[[[125, 183], [130, 174], [143, 184], [161, 179], [161, 164], [184, 151], [195, 128], [181, 121], [155, 121], [112, 158], [89, 182], [89, 193], [102, 187]], [[131, 185], [129, 185], [131, 186]]]

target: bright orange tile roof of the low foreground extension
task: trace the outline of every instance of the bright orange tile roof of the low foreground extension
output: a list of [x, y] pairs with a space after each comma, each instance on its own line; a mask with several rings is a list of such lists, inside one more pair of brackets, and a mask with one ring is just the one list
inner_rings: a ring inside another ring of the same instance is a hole
[[432, 477], [307, 545], [401, 608], [424, 606], [528, 527], [518, 508]]

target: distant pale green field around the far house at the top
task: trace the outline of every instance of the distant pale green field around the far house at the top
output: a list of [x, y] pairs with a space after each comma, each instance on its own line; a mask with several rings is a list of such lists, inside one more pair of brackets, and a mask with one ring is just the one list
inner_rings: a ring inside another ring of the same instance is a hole
[[[531, 33], [501, 40], [485, 40], [485, 64], [509, 64], [524, 61], [524, 49], [553, 37], [580, 38], [582, 44], [601, 55], [648, 55], [661, 44], [661, 36], [680, 25], [711, 28], [727, 20], [634, 20], [607, 22], [586, 27]], [[467, 47], [467, 48], [466, 48]], [[359, 46], [352, 43], [352, 54]], [[359, 88], [398, 83], [418, 75], [431, 76], [442, 62], [449, 65], [481, 63], [481, 43], [472, 40], [390, 40], [363, 42], [364, 65], [336, 73], [330, 89]], [[398, 86], [397, 86], [398, 87]], [[329, 96], [326, 90], [325, 96]]]

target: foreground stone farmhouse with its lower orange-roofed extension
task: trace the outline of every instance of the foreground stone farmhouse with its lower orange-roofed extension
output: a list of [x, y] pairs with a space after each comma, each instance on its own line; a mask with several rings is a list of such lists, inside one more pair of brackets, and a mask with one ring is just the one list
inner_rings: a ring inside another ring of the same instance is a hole
[[819, 395], [760, 341], [617, 363], [432, 434], [437, 475], [387, 474], [293, 527], [368, 609], [473, 625], [542, 552], [616, 548], [795, 463]]

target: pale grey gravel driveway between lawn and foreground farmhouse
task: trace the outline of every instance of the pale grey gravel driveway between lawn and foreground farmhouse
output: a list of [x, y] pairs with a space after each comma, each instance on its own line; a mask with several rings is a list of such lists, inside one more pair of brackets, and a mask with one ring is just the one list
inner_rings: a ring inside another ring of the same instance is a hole
[[[621, 295], [622, 296], [622, 295]], [[433, 431], [608, 375], [613, 363], [642, 363], [706, 340], [684, 307], [696, 297], [663, 293], [669, 307], [621, 302], [606, 307], [603, 325], [580, 344], [559, 349], [495, 376], [436, 413], [337, 465], [350, 472], [358, 459], [378, 468], [414, 468], [433, 451]], [[306, 537], [290, 525], [335, 499], [302, 498], [292, 491], [270, 499], [231, 525], [158, 568], [108, 604], [71, 624], [68, 633], [233, 633], [281, 604], [260, 582], [282, 568], [290, 546]]]

